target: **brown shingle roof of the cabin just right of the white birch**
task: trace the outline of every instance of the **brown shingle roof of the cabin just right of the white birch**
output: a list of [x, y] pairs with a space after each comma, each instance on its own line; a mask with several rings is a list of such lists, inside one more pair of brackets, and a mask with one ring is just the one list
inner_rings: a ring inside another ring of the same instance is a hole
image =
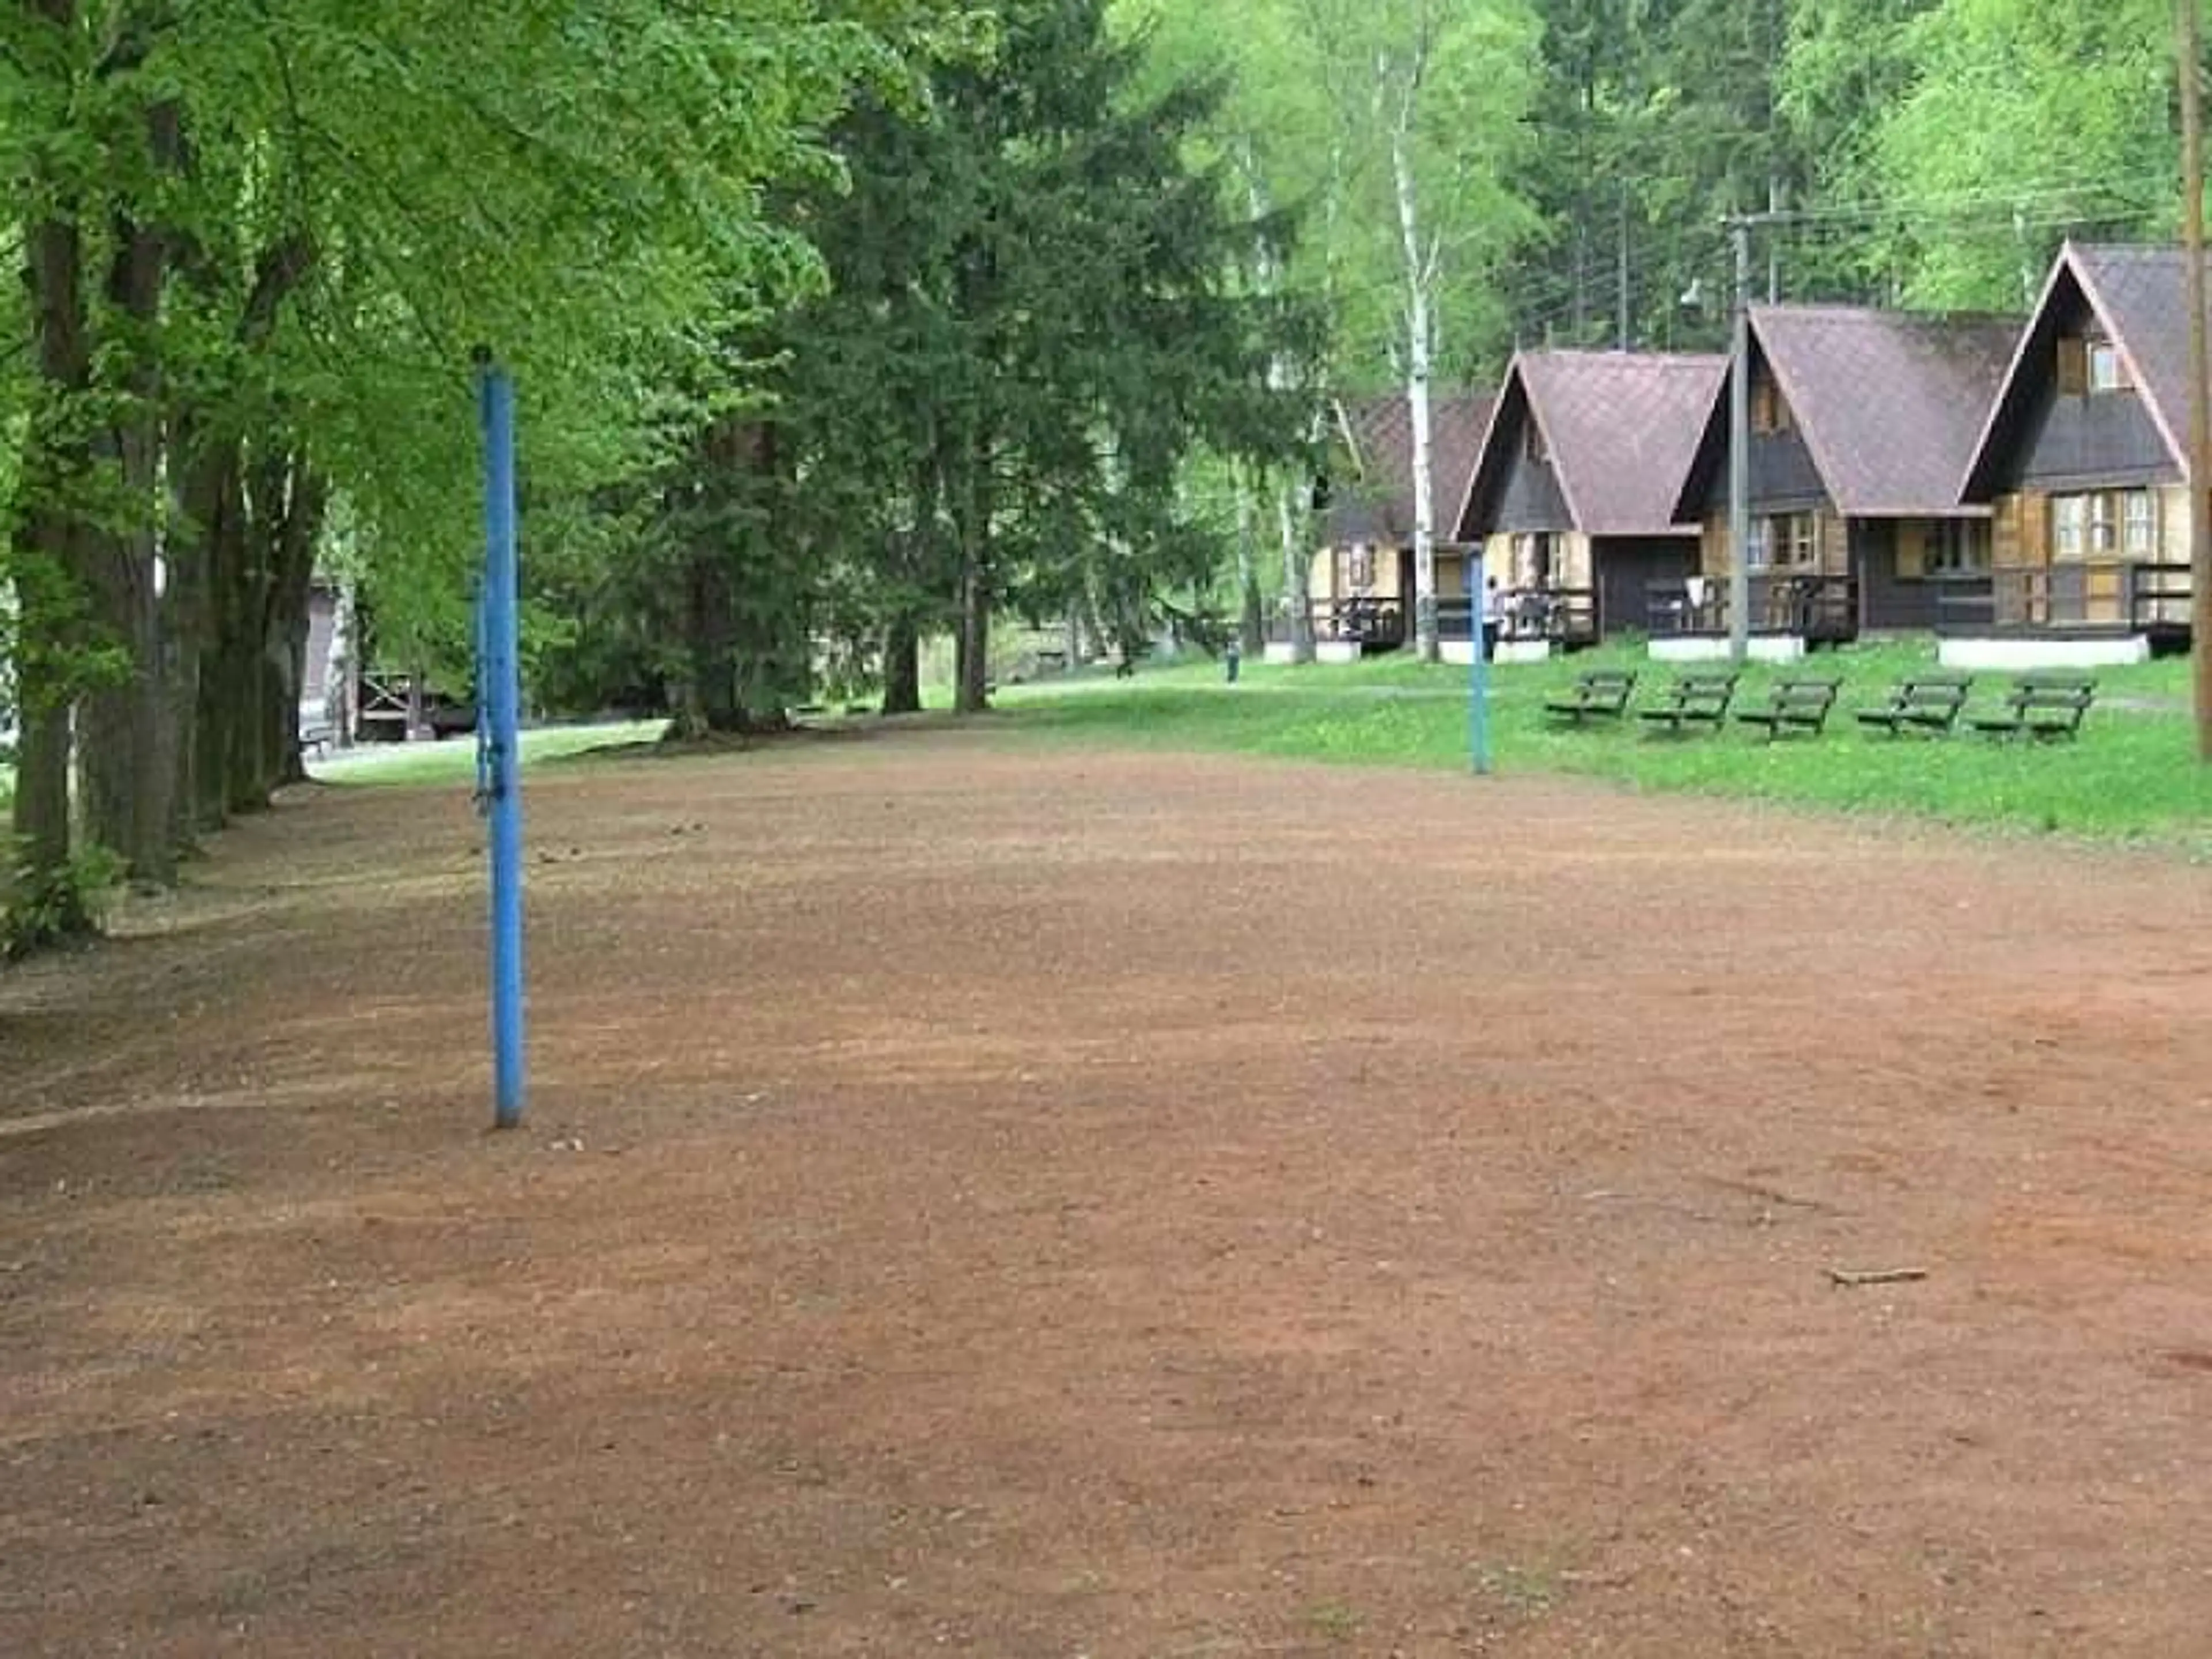
[[[1522, 352], [1506, 385], [1520, 378], [1526, 392], [1577, 531], [1663, 535], [1677, 526], [1674, 498], [1725, 376], [1728, 358], [1721, 356]], [[1504, 462], [1498, 447], [1509, 438], [1500, 425], [1493, 420], [1484, 434], [1475, 462], [1482, 476]], [[1462, 524], [1473, 489], [1469, 478]]]

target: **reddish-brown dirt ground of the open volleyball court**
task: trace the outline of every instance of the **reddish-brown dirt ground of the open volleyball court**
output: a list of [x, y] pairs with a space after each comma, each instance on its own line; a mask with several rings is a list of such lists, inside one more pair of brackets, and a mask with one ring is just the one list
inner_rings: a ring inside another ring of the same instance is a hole
[[958, 730], [529, 812], [513, 1135], [465, 792], [0, 978], [0, 1655], [2212, 1652], [2212, 872]]

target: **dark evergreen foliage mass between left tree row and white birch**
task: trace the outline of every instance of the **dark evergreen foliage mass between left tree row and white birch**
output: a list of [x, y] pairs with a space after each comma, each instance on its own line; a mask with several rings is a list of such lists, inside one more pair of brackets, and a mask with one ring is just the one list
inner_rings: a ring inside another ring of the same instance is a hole
[[962, 595], [1141, 628], [1210, 591], [1188, 462], [1296, 447], [1267, 372], [1310, 327], [1237, 281], [1283, 228], [1199, 164], [1221, 86], [1150, 64], [1104, 0], [1020, 0], [927, 100], [836, 128], [836, 186], [787, 204], [823, 285], [726, 334], [699, 385], [743, 367], [757, 396], [639, 476], [626, 568], [568, 580], [595, 619], [661, 619], [648, 668], [712, 681], [710, 723], [732, 679], [743, 714], [807, 697], [816, 659], [867, 681], [887, 628], [951, 626]]

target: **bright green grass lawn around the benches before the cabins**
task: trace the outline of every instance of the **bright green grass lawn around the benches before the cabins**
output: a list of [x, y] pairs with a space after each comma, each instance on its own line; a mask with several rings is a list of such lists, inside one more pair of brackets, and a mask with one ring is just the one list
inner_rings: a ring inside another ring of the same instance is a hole
[[[1741, 703], [1756, 706], [1776, 672], [1840, 675], [1843, 697], [1818, 739], [1765, 743], [1743, 726], [1721, 737], [1646, 737], [1555, 728], [1544, 699], [1584, 668], [1635, 668], [1639, 692], [1672, 666], [1639, 648], [1491, 670], [1491, 743], [1502, 772], [1575, 772], [1652, 790], [1913, 814], [1960, 825], [2179, 845], [2212, 854], [2212, 768], [2194, 759], [2190, 664], [2159, 661], [2097, 675], [2097, 708], [2079, 743], [1993, 743], [1960, 730], [1947, 741], [1863, 734], [1849, 710], [1878, 703], [1893, 679], [1933, 666], [1931, 644], [1849, 646], [1796, 670], [1752, 666]], [[1276, 754], [1347, 765], [1467, 768], [1464, 668], [1378, 659], [1358, 666], [1248, 668], [1237, 686], [1217, 666], [1157, 668], [1135, 681], [1071, 679], [1015, 688], [1000, 703], [1015, 730], [1060, 741]], [[1995, 706], [2008, 675], [1978, 677], [1973, 706]]]

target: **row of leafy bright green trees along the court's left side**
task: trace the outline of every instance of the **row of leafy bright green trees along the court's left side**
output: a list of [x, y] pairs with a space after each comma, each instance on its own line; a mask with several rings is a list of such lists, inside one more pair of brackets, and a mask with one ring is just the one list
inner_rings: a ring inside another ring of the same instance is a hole
[[469, 345], [531, 387], [535, 487], [619, 476], [697, 427], [661, 392], [670, 365], [710, 356], [732, 307], [790, 294], [810, 263], [763, 184], [827, 164], [823, 124], [894, 66], [872, 27], [931, 11], [0, 15], [31, 367], [0, 566], [24, 703], [18, 945], [84, 922], [73, 763], [88, 841], [148, 878], [175, 785], [206, 825], [296, 768], [307, 571], [334, 500], [398, 626], [465, 617]]

